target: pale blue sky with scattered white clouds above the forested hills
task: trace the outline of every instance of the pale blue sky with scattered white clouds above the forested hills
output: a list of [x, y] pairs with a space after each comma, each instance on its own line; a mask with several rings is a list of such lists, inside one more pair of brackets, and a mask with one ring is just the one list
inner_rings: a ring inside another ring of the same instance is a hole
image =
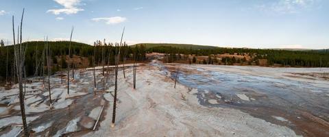
[[328, 0], [0, 0], [0, 39], [329, 48]]

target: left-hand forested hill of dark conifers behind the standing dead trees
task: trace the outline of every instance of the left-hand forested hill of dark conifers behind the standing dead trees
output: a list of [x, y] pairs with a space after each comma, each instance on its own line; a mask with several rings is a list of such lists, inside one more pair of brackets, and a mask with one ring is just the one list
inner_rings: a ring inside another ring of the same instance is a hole
[[[47, 64], [47, 57], [45, 57], [45, 55], [47, 55], [45, 52], [46, 45], [49, 46], [49, 62], [51, 64], [52, 73], [60, 71], [61, 69], [66, 69], [69, 65], [70, 68], [90, 67], [93, 65], [94, 54], [95, 65], [114, 64], [116, 48], [113, 44], [104, 44], [99, 40], [95, 42], [95, 48], [94, 46], [81, 42], [71, 42], [71, 50], [69, 50], [69, 41], [24, 42], [23, 47], [27, 46], [25, 52], [25, 71], [27, 77], [42, 75], [41, 72], [45, 71], [43, 69], [47, 69], [47, 67], [45, 67]], [[118, 51], [119, 50], [117, 50], [117, 52]], [[133, 58], [137, 61], [143, 61], [145, 60], [145, 51], [145, 47], [143, 46], [129, 47], [123, 45], [120, 52], [120, 61], [122, 61], [123, 58], [128, 61], [133, 60]], [[132, 55], [134, 55], [134, 57]], [[0, 47], [0, 81], [5, 80], [5, 77], [13, 78], [14, 72], [14, 46]]]

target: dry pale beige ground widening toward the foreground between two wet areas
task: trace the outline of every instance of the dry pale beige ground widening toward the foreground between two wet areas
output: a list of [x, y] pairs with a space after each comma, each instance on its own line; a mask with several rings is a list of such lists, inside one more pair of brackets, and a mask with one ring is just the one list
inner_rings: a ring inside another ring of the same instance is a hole
[[119, 75], [116, 126], [110, 127], [110, 105], [99, 130], [85, 136], [296, 136], [239, 110], [199, 105], [196, 89], [173, 88], [173, 80], [162, 73], [157, 66], [138, 68], [136, 90], [131, 69], [126, 79]]

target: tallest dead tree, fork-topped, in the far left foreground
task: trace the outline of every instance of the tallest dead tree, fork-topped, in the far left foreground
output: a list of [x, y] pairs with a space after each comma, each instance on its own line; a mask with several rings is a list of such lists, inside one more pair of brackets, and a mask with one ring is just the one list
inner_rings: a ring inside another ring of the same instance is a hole
[[27, 123], [26, 123], [26, 116], [25, 116], [25, 105], [24, 105], [24, 96], [23, 96], [23, 69], [24, 69], [24, 62], [25, 62], [25, 51], [26, 51], [26, 45], [23, 47], [22, 45], [22, 28], [23, 28], [23, 16], [24, 16], [24, 8], [21, 18], [21, 37], [17, 38], [17, 40], [20, 40], [19, 43], [15, 43], [15, 30], [14, 30], [14, 16], [12, 16], [12, 33], [14, 36], [14, 58], [16, 60], [16, 75], [17, 80], [19, 81], [19, 104], [21, 107], [21, 115], [22, 115], [22, 121], [23, 121], [23, 129], [25, 136], [29, 136], [29, 129], [27, 129]]

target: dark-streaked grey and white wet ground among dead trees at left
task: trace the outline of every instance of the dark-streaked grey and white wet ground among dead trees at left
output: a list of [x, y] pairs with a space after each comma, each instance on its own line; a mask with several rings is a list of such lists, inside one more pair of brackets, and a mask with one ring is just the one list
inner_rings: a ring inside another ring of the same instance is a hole
[[[34, 118], [32, 121], [28, 121], [32, 136], [64, 136], [93, 131], [99, 114], [99, 107], [105, 105], [104, 108], [108, 108], [110, 103], [103, 97], [106, 77], [101, 75], [100, 70], [96, 72], [97, 88], [94, 92], [92, 72], [84, 69], [75, 71], [75, 79], [70, 80], [69, 95], [67, 95], [66, 77], [64, 77], [62, 85], [60, 77], [51, 76], [51, 98], [53, 102], [51, 106], [49, 106], [47, 78], [45, 88], [42, 88], [42, 79], [31, 78], [34, 82], [27, 84], [25, 108], [27, 119]], [[63, 73], [66, 74], [66, 72]], [[71, 72], [70, 74], [72, 75]], [[111, 70], [107, 88], [113, 85], [112, 77]], [[21, 123], [21, 112], [15, 92], [18, 93], [15, 87], [12, 90], [1, 92], [3, 93], [0, 99], [0, 106], [3, 109], [0, 112], [0, 123], [3, 124], [0, 127], [1, 136], [18, 135], [21, 130], [21, 124], [19, 124]], [[104, 114], [102, 114], [100, 121], [103, 120], [103, 116]], [[11, 123], [10, 120], [12, 119], [16, 122]]]

